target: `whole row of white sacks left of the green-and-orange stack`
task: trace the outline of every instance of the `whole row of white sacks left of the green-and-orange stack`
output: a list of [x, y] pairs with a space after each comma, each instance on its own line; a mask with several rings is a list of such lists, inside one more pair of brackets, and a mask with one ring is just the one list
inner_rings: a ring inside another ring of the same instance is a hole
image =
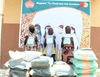
[[53, 62], [53, 58], [42, 56], [38, 51], [9, 51], [11, 57], [5, 63], [10, 69], [9, 77], [74, 77], [76, 73], [65, 62]]

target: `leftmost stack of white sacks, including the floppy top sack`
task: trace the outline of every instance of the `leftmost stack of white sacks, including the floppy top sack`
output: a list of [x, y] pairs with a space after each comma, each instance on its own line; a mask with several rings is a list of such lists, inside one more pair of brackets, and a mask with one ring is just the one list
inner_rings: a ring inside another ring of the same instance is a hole
[[[9, 51], [10, 60], [5, 63], [5, 66], [10, 69], [9, 77], [28, 77], [28, 70], [31, 67], [31, 60], [42, 55], [41, 52], [32, 51]], [[26, 61], [28, 59], [28, 61]]]

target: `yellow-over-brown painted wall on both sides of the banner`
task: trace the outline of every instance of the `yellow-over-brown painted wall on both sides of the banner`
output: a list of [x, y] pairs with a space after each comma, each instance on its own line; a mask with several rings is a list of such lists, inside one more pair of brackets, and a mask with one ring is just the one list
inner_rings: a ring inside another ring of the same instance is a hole
[[[100, 0], [91, 1], [91, 48], [98, 57], [100, 66]], [[9, 59], [9, 50], [18, 47], [21, 0], [5, 0], [4, 24], [2, 27], [2, 66]]]

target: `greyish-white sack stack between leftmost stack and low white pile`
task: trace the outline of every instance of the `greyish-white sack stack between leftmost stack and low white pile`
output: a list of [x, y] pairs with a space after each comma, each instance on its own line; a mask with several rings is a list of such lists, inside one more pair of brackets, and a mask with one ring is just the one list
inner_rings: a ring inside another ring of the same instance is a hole
[[32, 77], [51, 77], [54, 71], [51, 68], [53, 65], [53, 58], [47, 56], [40, 56], [31, 61], [30, 75]]

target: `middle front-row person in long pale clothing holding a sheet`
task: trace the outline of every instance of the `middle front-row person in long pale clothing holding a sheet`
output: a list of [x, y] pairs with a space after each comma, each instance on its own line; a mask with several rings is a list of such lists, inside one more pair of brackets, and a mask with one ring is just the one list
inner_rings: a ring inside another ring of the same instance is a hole
[[56, 37], [54, 36], [54, 31], [52, 28], [48, 29], [48, 34], [44, 37], [44, 47], [46, 48], [46, 56], [53, 57], [55, 61], [55, 53], [53, 53], [56, 48]]

